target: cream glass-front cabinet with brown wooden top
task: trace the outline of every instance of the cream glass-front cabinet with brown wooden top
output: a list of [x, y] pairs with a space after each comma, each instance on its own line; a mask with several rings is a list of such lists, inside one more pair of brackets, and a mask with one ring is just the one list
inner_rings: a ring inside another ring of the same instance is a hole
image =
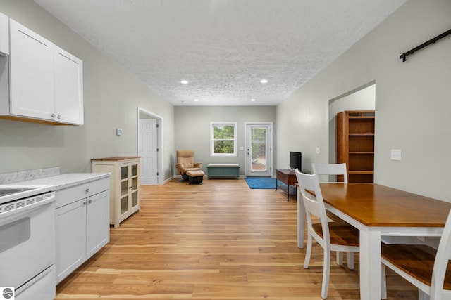
[[92, 172], [111, 173], [110, 224], [119, 224], [140, 210], [140, 157], [91, 159]]

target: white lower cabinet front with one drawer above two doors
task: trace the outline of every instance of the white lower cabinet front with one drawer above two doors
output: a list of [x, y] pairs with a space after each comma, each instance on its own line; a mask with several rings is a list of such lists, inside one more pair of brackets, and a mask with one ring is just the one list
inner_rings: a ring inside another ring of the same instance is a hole
[[56, 283], [109, 242], [109, 178], [56, 191]]

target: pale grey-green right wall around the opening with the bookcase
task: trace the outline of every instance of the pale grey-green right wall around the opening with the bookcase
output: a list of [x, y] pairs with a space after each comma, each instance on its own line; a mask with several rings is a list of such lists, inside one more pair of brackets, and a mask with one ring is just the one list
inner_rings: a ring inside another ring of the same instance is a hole
[[[304, 165], [328, 162], [328, 101], [375, 81], [375, 182], [451, 202], [451, 37], [399, 59], [449, 30], [450, 15], [449, 0], [407, 1], [278, 105], [276, 166], [295, 147]], [[402, 150], [400, 162], [390, 149]]]

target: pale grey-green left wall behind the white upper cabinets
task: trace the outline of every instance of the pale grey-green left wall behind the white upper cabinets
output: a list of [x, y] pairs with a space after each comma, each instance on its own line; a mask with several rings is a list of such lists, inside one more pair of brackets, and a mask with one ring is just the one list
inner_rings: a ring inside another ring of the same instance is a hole
[[[91, 171], [92, 158], [137, 155], [137, 107], [163, 118], [164, 178], [172, 176], [173, 105], [144, 86], [32, 0], [0, 0], [0, 11], [83, 60], [85, 125], [0, 120], [0, 173], [61, 167]], [[123, 129], [116, 136], [115, 129]]]

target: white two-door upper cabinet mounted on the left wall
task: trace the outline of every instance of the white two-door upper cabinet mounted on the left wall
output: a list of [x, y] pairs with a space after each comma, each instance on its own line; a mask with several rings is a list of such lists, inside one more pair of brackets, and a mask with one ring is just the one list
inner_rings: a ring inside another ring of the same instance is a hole
[[10, 98], [1, 117], [44, 124], [83, 124], [82, 60], [10, 19]]

